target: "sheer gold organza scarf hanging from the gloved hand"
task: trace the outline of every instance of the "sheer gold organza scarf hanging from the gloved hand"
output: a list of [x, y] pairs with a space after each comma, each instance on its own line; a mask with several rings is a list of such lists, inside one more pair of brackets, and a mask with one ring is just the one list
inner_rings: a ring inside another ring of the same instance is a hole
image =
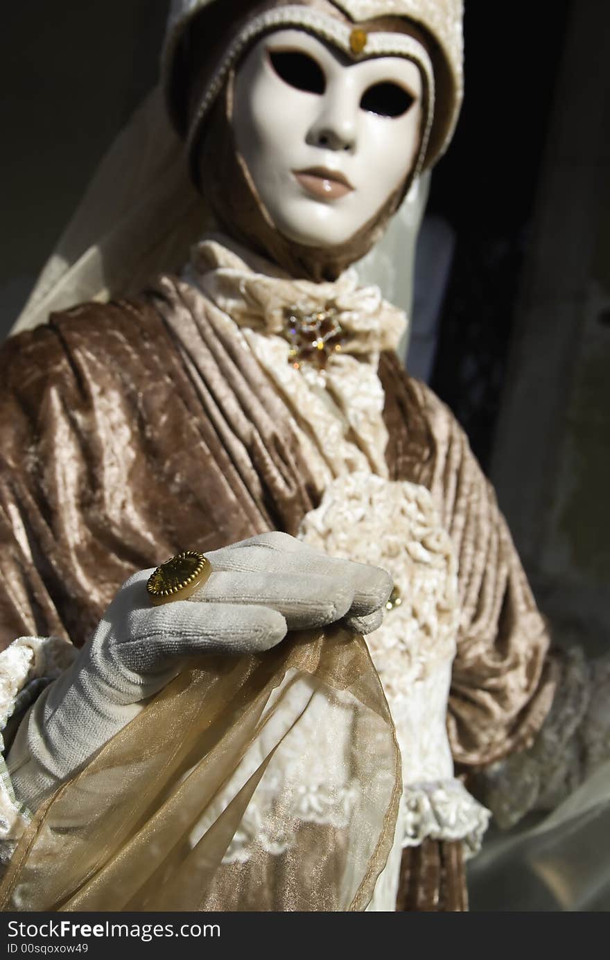
[[4, 910], [363, 910], [401, 767], [361, 638], [198, 660], [37, 811]]

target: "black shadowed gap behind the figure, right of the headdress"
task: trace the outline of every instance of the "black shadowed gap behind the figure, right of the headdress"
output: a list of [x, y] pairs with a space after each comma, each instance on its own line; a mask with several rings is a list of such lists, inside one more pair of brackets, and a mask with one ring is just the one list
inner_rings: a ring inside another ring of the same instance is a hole
[[489, 467], [571, 4], [466, 3], [466, 96], [428, 212], [456, 247], [431, 385]]

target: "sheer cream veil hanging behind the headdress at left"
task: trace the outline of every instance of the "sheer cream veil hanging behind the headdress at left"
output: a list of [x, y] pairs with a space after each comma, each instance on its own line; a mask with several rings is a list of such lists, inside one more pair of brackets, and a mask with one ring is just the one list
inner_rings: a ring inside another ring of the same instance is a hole
[[11, 333], [45, 324], [54, 310], [134, 293], [159, 271], [180, 269], [209, 226], [156, 87], [101, 160]]

